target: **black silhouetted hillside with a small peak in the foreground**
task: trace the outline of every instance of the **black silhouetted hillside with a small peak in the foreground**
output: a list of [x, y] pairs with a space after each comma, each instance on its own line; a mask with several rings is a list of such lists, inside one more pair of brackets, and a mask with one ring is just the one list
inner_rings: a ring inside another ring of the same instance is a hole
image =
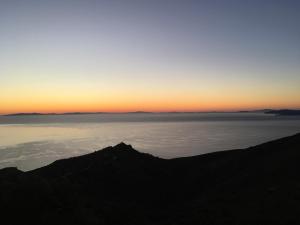
[[300, 224], [300, 133], [242, 150], [161, 159], [121, 143], [0, 170], [1, 224]]

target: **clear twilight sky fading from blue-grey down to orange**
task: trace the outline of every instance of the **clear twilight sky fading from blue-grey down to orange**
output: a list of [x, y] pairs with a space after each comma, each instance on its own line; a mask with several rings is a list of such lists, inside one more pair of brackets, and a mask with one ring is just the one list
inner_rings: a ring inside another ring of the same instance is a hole
[[298, 0], [0, 0], [0, 114], [300, 108]]

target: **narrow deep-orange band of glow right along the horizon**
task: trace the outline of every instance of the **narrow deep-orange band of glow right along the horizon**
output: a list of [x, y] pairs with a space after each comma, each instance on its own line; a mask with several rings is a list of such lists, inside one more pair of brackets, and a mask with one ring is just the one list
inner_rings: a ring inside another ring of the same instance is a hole
[[107, 112], [107, 113], [125, 113], [135, 111], [146, 112], [209, 112], [209, 111], [239, 111], [239, 110], [257, 110], [257, 109], [282, 109], [282, 108], [300, 108], [299, 105], [286, 103], [258, 103], [247, 104], [247, 102], [103, 102], [103, 103], [74, 103], [74, 102], [35, 102], [26, 104], [6, 104], [1, 108], [0, 114], [10, 113], [69, 113], [69, 112]]

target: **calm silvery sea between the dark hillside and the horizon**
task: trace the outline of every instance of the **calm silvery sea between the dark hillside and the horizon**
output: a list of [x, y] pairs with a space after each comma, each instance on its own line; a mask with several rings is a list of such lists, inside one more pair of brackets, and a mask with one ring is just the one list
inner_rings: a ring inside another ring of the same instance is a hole
[[300, 132], [300, 116], [124, 113], [0, 116], [0, 168], [28, 171], [120, 142], [170, 159], [241, 149]]

